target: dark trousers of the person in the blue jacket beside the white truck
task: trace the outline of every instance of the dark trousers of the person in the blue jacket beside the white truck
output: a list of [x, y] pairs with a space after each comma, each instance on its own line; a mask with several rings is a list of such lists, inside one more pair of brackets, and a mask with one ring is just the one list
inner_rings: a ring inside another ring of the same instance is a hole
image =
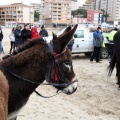
[[101, 50], [101, 47], [94, 47], [94, 52], [91, 56], [90, 61], [93, 61], [93, 59], [95, 59], [96, 62], [100, 61], [100, 50]]

